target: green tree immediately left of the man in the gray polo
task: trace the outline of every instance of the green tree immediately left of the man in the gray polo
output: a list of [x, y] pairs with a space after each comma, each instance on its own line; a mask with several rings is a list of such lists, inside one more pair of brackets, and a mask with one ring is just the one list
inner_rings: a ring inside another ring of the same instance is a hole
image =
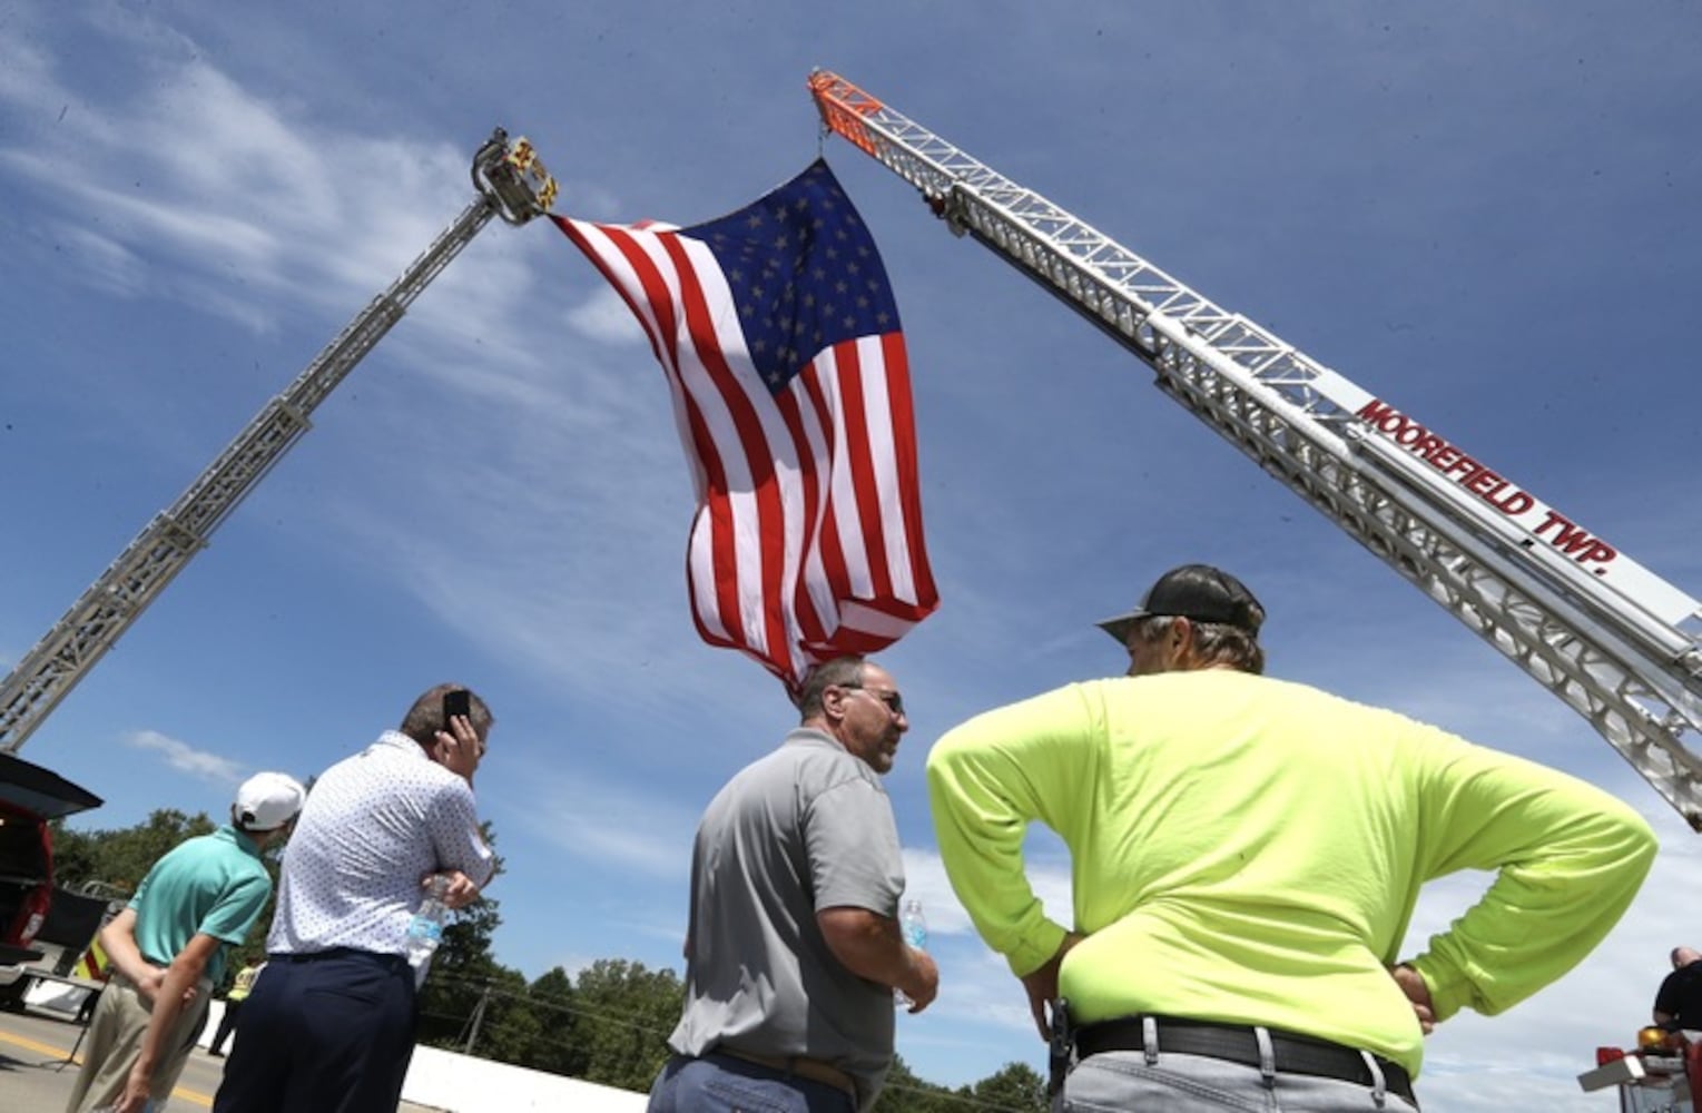
[[589, 1082], [647, 1091], [667, 1062], [667, 1033], [679, 1023], [686, 987], [672, 970], [599, 958], [579, 972], [574, 1045]]

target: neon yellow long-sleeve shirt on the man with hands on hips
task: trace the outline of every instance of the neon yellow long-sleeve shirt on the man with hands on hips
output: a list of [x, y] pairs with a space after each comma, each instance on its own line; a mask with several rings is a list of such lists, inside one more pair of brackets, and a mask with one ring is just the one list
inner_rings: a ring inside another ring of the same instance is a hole
[[1060, 992], [1079, 1023], [1135, 1013], [1266, 1025], [1418, 1072], [1387, 967], [1419, 887], [1496, 871], [1423, 955], [1436, 1018], [1499, 1013], [1573, 968], [1654, 859], [1629, 807], [1394, 711], [1208, 669], [1071, 684], [951, 730], [928, 757], [940, 854], [1021, 977], [1057, 951], [1023, 865], [1030, 822], [1071, 853]]

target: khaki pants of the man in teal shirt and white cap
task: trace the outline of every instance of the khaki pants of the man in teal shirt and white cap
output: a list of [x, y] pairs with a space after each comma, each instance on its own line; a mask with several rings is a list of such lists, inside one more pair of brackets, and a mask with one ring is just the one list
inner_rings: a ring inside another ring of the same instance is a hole
[[[148, 1098], [155, 1108], [163, 1108], [172, 1096], [177, 1077], [189, 1062], [194, 1048], [194, 1035], [206, 1018], [208, 1002], [213, 999], [213, 982], [203, 979], [196, 985], [196, 999], [177, 1014], [172, 1031], [165, 1033], [165, 1052], [160, 1065], [153, 1072], [153, 1086]], [[129, 1069], [141, 1057], [141, 1038], [148, 1031], [151, 1007], [136, 992], [136, 984], [121, 973], [114, 973], [100, 994], [94, 1019], [89, 1021], [89, 1035], [83, 1040], [83, 1069], [71, 1086], [71, 1099], [65, 1113], [94, 1113], [117, 1103], [124, 1094], [124, 1082], [129, 1081]]]

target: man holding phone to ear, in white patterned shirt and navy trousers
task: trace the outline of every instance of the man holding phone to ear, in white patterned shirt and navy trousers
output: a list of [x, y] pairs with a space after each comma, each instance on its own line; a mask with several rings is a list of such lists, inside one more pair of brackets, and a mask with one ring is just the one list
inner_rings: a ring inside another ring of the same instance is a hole
[[414, 1057], [408, 921], [431, 878], [463, 909], [494, 870], [473, 800], [492, 722], [478, 694], [437, 684], [313, 783], [214, 1113], [395, 1111]]

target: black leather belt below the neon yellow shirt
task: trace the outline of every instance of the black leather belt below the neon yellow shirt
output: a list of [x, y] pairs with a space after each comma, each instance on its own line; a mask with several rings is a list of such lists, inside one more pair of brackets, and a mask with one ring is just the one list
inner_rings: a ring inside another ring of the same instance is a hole
[[[1259, 1043], [1253, 1028], [1246, 1025], [1214, 1025], [1208, 1021], [1176, 1019], [1169, 1016], [1151, 1018], [1157, 1025], [1159, 1053], [1176, 1052], [1178, 1055], [1205, 1055], [1222, 1059], [1248, 1067], [1259, 1065]], [[1370, 1067], [1351, 1047], [1300, 1036], [1290, 1031], [1268, 1030], [1271, 1036], [1271, 1053], [1276, 1070], [1287, 1074], [1311, 1074], [1314, 1077], [1339, 1079], [1374, 1086]], [[1086, 1059], [1101, 1052], [1140, 1052], [1145, 1050], [1145, 1035], [1139, 1018], [1086, 1025], [1074, 1031], [1076, 1055]], [[1384, 1072], [1384, 1089], [1397, 1098], [1406, 1098], [1414, 1106], [1413, 1079], [1406, 1067], [1387, 1059], [1377, 1059]]]

